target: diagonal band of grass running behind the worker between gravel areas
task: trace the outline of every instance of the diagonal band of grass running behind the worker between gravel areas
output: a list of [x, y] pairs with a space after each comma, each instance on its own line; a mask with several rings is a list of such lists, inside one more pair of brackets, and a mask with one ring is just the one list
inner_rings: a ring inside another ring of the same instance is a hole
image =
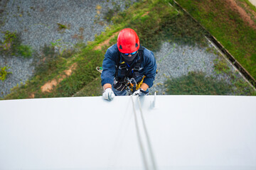
[[[141, 1], [127, 11], [107, 14], [106, 20], [112, 21], [113, 24], [105, 30], [105, 33], [98, 35], [95, 41], [88, 42], [87, 45], [78, 44], [73, 51], [55, 52], [54, 45], [42, 47], [43, 55], [38, 54], [35, 63], [37, 65], [35, 77], [26, 84], [14, 88], [4, 99], [101, 95], [100, 73], [95, 68], [102, 65], [107, 47], [116, 42], [117, 35], [114, 38], [111, 36], [123, 28], [133, 28], [139, 35], [141, 44], [153, 51], [159, 50], [161, 42], [166, 40], [187, 45], [206, 45], [205, 33], [201, 27], [182, 12], [169, 6], [168, 1]], [[94, 50], [110, 38], [107, 45], [102, 45], [100, 50]], [[77, 67], [70, 77], [60, 81], [50, 92], [41, 91], [43, 84], [60, 78], [74, 63]], [[201, 73], [198, 73], [198, 77], [201, 77]], [[211, 81], [209, 84], [215, 86]], [[216, 93], [210, 91], [208, 94]]]

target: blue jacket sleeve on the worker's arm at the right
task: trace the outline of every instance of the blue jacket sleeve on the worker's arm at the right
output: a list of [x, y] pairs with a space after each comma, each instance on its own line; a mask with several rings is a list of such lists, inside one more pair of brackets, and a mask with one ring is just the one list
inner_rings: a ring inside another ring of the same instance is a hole
[[149, 87], [153, 86], [156, 77], [156, 59], [153, 52], [149, 50], [144, 51], [144, 83]]

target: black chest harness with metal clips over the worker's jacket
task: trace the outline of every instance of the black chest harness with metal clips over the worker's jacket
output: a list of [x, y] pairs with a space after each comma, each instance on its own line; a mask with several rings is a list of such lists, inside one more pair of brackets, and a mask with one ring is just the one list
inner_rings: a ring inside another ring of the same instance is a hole
[[[144, 47], [140, 46], [138, 50], [139, 60], [132, 62], [131, 65], [127, 64], [126, 62], [120, 63], [121, 60], [121, 53], [117, 52], [117, 67], [115, 72], [115, 81], [114, 81], [114, 88], [118, 91], [123, 91], [127, 89], [129, 94], [132, 94], [134, 91], [142, 86], [144, 77], [141, 81], [136, 82], [135, 78], [139, 77], [139, 68], [144, 58]], [[127, 70], [127, 66], [129, 69]], [[118, 72], [119, 71], [119, 72]], [[132, 77], [130, 76], [132, 72]]]

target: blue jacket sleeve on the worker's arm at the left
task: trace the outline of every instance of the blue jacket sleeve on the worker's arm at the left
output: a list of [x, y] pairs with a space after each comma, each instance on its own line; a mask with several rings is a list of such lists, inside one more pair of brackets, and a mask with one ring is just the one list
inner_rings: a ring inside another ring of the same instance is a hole
[[102, 74], [101, 74], [101, 83], [102, 86], [104, 84], [111, 84], [114, 83], [114, 74], [115, 74], [115, 56], [116, 54], [112, 51], [112, 47], [107, 49], [105, 54], [105, 58], [102, 63]]

